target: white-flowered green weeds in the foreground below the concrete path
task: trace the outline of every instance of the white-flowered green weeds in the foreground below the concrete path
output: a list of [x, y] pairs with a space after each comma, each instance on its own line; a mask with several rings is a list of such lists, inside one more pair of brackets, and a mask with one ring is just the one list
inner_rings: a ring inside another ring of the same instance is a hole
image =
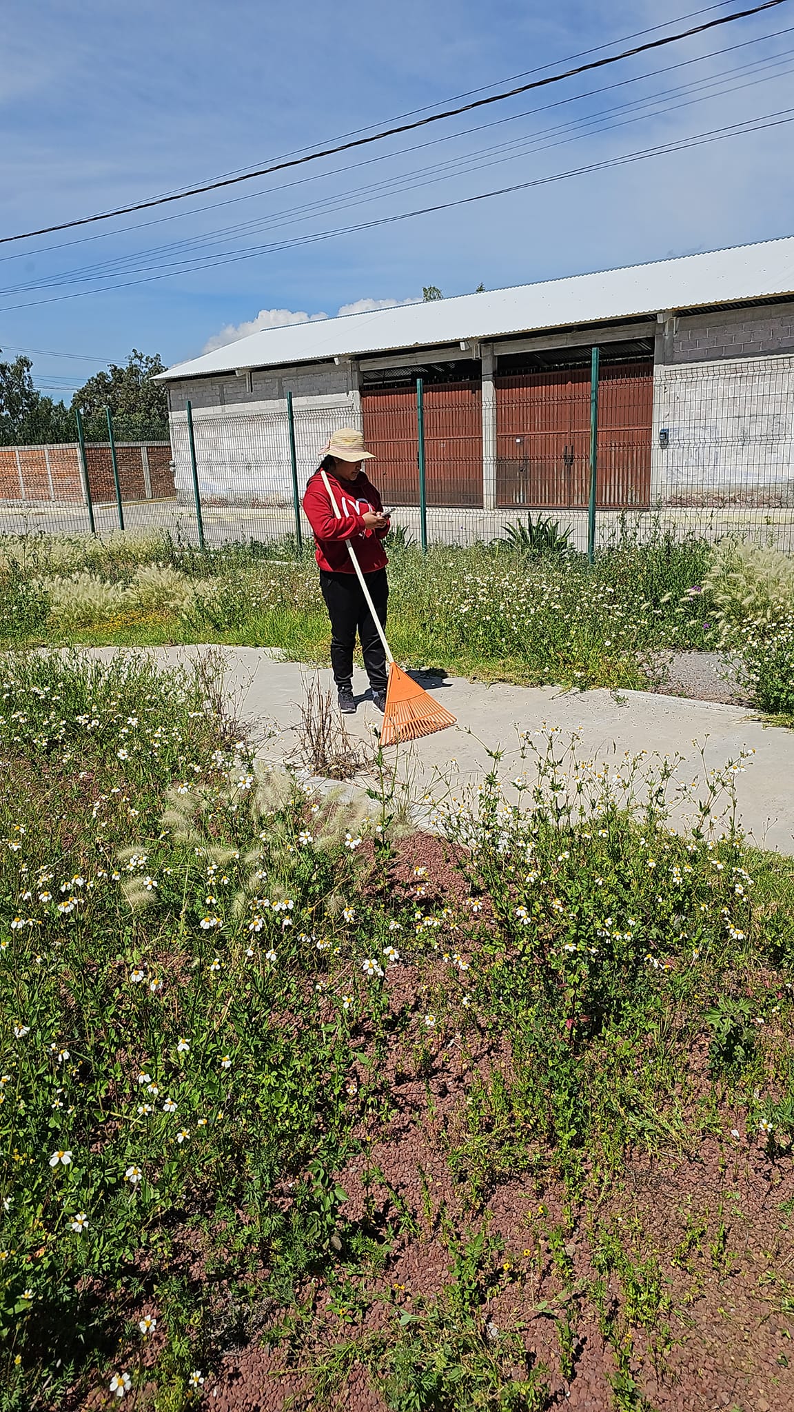
[[[1, 1412], [124, 1375], [179, 1412], [256, 1341], [315, 1406], [357, 1364], [391, 1412], [543, 1412], [538, 1269], [562, 1375], [591, 1310], [605, 1405], [646, 1405], [668, 1282], [732, 1278], [729, 1237], [712, 1211], [664, 1251], [605, 1226], [605, 1195], [634, 1154], [708, 1138], [735, 1163], [739, 1123], [783, 1165], [794, 1131], [794, 860], [746, 849], [732, 770], [678, 836], [665, 767], [527, 741], [519, 803], [490, 779], [439, 819], [441, 877], [400, 863], [387, 796], [256, 765], [206, 672], [17, 654], [0, 686]], [[451, 1200], [373, 1159], [405, 1079]], [[527, 1193], [517, 1244], [502, 1183]], [[446, 1272], [408, 1300], [394, 1272], [434, 1241]]]

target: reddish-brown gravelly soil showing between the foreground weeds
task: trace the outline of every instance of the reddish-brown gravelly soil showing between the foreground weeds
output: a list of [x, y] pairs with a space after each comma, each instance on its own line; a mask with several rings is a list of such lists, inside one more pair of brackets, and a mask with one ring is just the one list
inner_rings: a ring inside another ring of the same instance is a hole
[[[435, 887], [441, 884], [448, 892], [461, 888], [461, 874], [445, 861], [438, 839], [415, 836], [401, 854], [394, 885], [410, 887], [411, 870], [421, 864]], [[427, 1001], [414, 967], [390, 969], [390, 994], [393, 1011], [408, 1001], [422, 1014]], [[692, 1070], [702, 1073], [705, 1084], [705, 1051], [691, 1058]], [[383, 1076], [391, 1120], [377, 1127], [362, 1123], [360, 1137], [372, 1141], [369, 1163], [381, 1168], [393, 1190], [417, 1214], [420, 1234], [397, 1238], [383, 1274], [369, 1285], [377, 1299], [363, 1319], [346, 1320], [326, 1310], [329, 1291], [315, 1281], [301, 1291], [319, 1320], [312, 1346], [290, 1348], [283, 1340], [268, 1347], [266, 1324], [259, 1341], [229, 1350], [208, 1372], [202, 1405], [216, 1412], [315, 1412], [321, 1406], [389, 1412], [365, 1367], [353, 1364], [329, 1402], [315, 1398], [301, 1367], [322, 1347], [383, 1329], [400, 1312], [411, 1312], [421, 1299], [449, 1288], [452, 1257], [442, 1241], [444, 1224], [449, 1219], [458, 1230], [479, 1228], [482, 1216], [472, 1216], [468, 1186], [452, 1176], [444, 1134], [454, 1135], [461, 1127], [475, 1070], [486, 1076], [493, 1069], [509, 1072], [510, 1055], [507, 1043], [489, 1036], [485, 1027], [479, 1043], [476, 1035], [469, 1036], [466, 1055], [456, 1043], [442, 1048], [438, 1042], [429, 1076], [405, 1072], [405, 1053], [393, 1053]], [[366, 1217], [366, 1166], [359, 1156], [339, 1173], [349, 1196], [342, 1216], [350, 1221]], [[384, 1189], [376, 1186], [374, 1193], [376, 1204], [386, 1206]], [[619, 1180], [593, 1190], [572, 1210], [562, 1183], [531, 1178], [493, 1185], [486, 1206], [489, 1236], [500, 1237], [504, 1248], [494, 1257], [490, 1298], [478, 1319], [493, 1330], [494, 1340], [510, 1327], [521, 1330], [524, 1347], [548, 1370], [545, 1408], [794, 1408], [794, 1166], [790, 1155], [770, 1158], [759, 1135], [746, 1134], [743, 1121], [726, 1104], [713, 1114], [712, 1135], [697, 1139], [684, 1154], [630, 1156]], [[565, 1221], [569, 1236], [564, 1255], [558, 1250], [555, 1258], [548, 1233]], [[647, 1329], [641, 1308], [636, 1322], [626, 1323], [626, 1284], [617, 1274], [603, 1276], [600, 1316], [585, 1288], [599, 1278], [592, 1261], [593, 1238], [605, 1230], [617, 1231], [634, 1262], [643, 1261], [658, 1275], [664, 1310], [648, 1320]], [[568, 1271], [562, 1278], [565, 1260]], [[609, 1322], [610, 1315], [623, 1333], [622, 1384], [615, 1348], [605, 1337], [605, 1316]], [[558, 1323], [564, 1319], [574, 1334], [568, 1375], [559, 1356]], [[616, 1401], [616, 1380], [629, 1389], [620, 1394], [622, 1401]], [[129, 1394], [124, 1406], [143, 1412], [153, 1405], [153, 1391]], [[86, 1412], [107, 1405], [106, 1394], [96, 1392], [82, 1404]], [[429, 1404], [427, 1409], [431, 1412]]]

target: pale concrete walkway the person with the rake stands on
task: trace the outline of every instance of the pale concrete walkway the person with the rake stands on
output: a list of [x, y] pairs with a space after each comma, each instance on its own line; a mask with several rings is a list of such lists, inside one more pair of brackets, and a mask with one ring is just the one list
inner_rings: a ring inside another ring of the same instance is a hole
[[[126, 650], [97, 648], [96, 655], [109, 658], [119, 651]], [[150, 651], [164, 665], [178, 665], [208, 648]], [[328, 689], [331, 672], [280, 661], [267, 648], [215, 651], [223, 652], [226, 659], [225, 690], [230, 710], [261, 736], [260, 754], [271, 760], [291, 754], [300, 738], [307, 686], [319, 676]], [[417, 802], [441, 801], [476, 786], [494, 768], [489, 750], [503, 751], [497, 770], [506, 782], [524, 771], [531, 778], [528, 761], [521, 760], [519, 733], [554, 726], [562, 740], [572, 731], [579, 733], [579, 758], [622, 758], [624, 751], [684, 757], [675, 778], [689, 785], [698, 781], [691, 801], [674, 810], [685, 820], [692, 816], [692, 799], [705, 796], [705, 771], [719, 770], [729, 760], [737, 761], [742, 750], [753, 750], [754, 755], [736, 777], [742, 823], [759, 846], [794, 853], [794, 731], [766, 729], [740, 706], [646, 692], [569, 693], [552, 686], [486, 686], [461, 678], [425, 681], [424, 685], [456, 716], [458, 724], [387, 753]], [[355, 688], [365, 692], [362, 674]], [[350, 734], [362, 741], [374, 740], [379, 722], [372, 702], [360, 705], [356, 716], [345, 717]]]

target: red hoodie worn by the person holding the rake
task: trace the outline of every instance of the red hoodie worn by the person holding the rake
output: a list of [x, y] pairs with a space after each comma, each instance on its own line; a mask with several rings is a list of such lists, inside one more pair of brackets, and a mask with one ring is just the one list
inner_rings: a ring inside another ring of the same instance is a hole
[[389, 528], [369, 530], [363, 521], [367, 510], [377, 513], [383, 510], [379, 491], [363, 470], [355, 480], [339, 480], [331, 470], [326, 474], [336, 505], [342, 511], [340, 520], [333, 514], [319, 470], [315, 470], [304, 496], [304, 511], [314, 530], [315, 559], [319, 568], [331, 573], [355, 573], [345, 544], [346, 539], [352, 539], [363, 573], [384, 569], [389, 559], [380, 541], [386, 539]]

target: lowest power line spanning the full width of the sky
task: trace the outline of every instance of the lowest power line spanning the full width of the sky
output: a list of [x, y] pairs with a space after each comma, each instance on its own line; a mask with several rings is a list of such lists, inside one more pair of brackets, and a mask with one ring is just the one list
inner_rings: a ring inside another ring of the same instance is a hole
[[[411, 220], [411, 219], [414, 219], [417, 216], [428, 216], [428, 215], [434, 215], [434, 213], [437, 213], [439, 210], [449, 210], [449, 209], [458, 208], [458, 206], [469, 206], [469, 205], [473, 205], [475, 202], [479, 202], [479, 201], [490, 201], [494, 196], [506, 196], [506, 195], [510, 195], [510, 193], [517, 192], [517, 191], [528, 191], [530, 188], [534, 188], [534, 186], [548, 186], [548, 185], [552, 185], [554, 182], [568, 181], [568, 179], [571, 179], [574, 176], [582, 176], [582, 175], [588, 175], [591, 172], [606, 171], [606, 169], [613, 168], [613, 167], [632, 165], [634, 162], [646, 161], [646, 160], [648, 160], [651, 157], [665, 157], [665, 155], [670, 155], [671, 152], [688, 151], [689, 148], [694, 148], [694, 147], [704, 147], [704, 145], [711, 144], [711, 143], [725, 141], [729, 137], [742, 137], [742, 136], [745, 136], [747, 133], [759, 133], [759, 131], [766, 131], [766, 130], [773, 128], [773, 127], [783, 127], [783, 126], [787, 126], [788, 123], [794, 123], [794, 116], [790, 116], [790, 114], [794, 114], [794, 109], [791, 109], [791, 107], [788, 107], [788, 109], [780, 109], [777, 113], [766, 113], [766, 114], [763, 114], [763, 117], [759, 117], [759, 119], [746, 120], [743, 123], [732, 123], [732, 124], [729, 124], [726, 127], [712, 128], [711, 131], [706, 131], [706, 133], [697, 133], [692, 137], [682, 138], [682, 140], [675, 140], [672, 143], [663, 143], [663, 144], [660, 144], [657, 147], [643, 148], [643, 150], [640, 150], [637, 152], [623, 152], [620, 157], [605, 158], [603, 161], [589, 162], [589, 164], [586, 164], [583, 167], [574, 167], [574, 168], [571, 168], [568, 171], [555, 172], [555, 174], [552, 174], [550, 176], [537, 176], [533, 181], [516, 182], [511, 186], [500, 186], [496, 191], [479, 192], [476, 196], [461, 196], [456, 201], [439, 202], [435, 206], [422, 206], [422, 208], [420, 208], [417, 210], [404, 210], [404, 212], [398, 212], [397, 215], [393, 215], [393, 216], [380, 216], [380, 217], [377, 217], [374, 220], [359, 222], [355, 226], [339, 226], [339, 227], [336, 227], [333, 230], [322, 230], [322, 232], [316, 232], [315, 234], [311, 234], [311, 236], [298, 236], [294, 240], [273, 241], [271, 244], [260, 246], [260, 247], [253, 249], [253, 250], [247, 250], [243, 254], [235, 254], [235, 256], [227, 256], [225, 258], [208, 260], [208, 261], [205, 261], [203, 265], [194, 265], [192, 270], [195, 271], [196, 268], [213, 268], [213, 267], [222, 265], [222, 264], [237, 264], [242, 260], [251, 260], [254, 256], [259, 256], [259, 254], [271, 254], [271, 253], [275, 253], [275, 251], [280, 251], [280, 250], [291, 250], [291, 249], [295, 249], [295, 247], [300, 247], [300, 246], [316, 244], [321, 240], [333, 240], [338, 236], [352, 234], [352, 233], [356, 233], [359, 230], [372, 230], [376, 226], [390, 226], [390, 225], [396, 225], [397, 222], [401, 222], [401, 220]], [[138, 285], [138, 284], [153, 284], [153, 282], [160, 281], [160, 280], [168, 280], [168, 278], [172, 278], [175, 274], [182, 274], [182, 273], [185, 273], [185, 271], [182, 271], [182, 270], [171, 270], [171, 271], [167, 271], [165, 274], [155, 274], [155, 275], [144, 277], [143, 280], [126, 280], [122, 284], [106, 285], [102, 289], [81, 289], [81, 291], [76, 291], [75, 294], [55, 295], [51, 299], [35, 299], [35, 301], [31, 301], [30, 304], [14, 304], [14, 305], [8, 305], [7, 311], [3, 311], [3, 312], [8, 312], [11, 309], [38, 308], [40, 305], [44, 305], [44, 304], [62, 304], [65, 299], [79, 299], [79, 298], [83, 298], [85, 295], [89, 295], [89, 294], [106, 294], [106, 292], [114, 291], [114, 289], [127, 289], [127, 288], [131, 288], [131, 287]], [[188, 267], [188, 273], [191, 273], [191, 267]]]

